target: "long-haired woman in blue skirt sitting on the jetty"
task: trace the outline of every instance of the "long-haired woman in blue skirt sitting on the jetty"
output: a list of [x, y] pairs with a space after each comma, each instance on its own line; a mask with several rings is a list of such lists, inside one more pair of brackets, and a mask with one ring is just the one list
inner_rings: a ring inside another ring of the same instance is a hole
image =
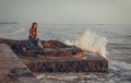
[[28, 48], [29, 49], [43, 49], [43, 45], [39, 42], [39, 39], [37, 38], [37, 28], [38, 28], [38, 24], [36, 22], [34, 22], [32, 24], [32, 27], [29, 28], [29, 36], [28, 36]]

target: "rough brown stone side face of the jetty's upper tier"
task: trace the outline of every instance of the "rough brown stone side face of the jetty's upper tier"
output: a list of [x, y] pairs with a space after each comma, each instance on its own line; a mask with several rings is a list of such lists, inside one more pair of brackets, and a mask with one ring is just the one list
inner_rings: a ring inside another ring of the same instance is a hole
[[67, 46], [64, 48], [45, 48], [43, 50], [26, 50], [26, 51], [21, 51], [23, 56], [37, 56], [43, 58], [52, 58], [52, 57], [82, 57], [83, 56], [83, 50], [80, 48], [76, 48], [74, 46]]

